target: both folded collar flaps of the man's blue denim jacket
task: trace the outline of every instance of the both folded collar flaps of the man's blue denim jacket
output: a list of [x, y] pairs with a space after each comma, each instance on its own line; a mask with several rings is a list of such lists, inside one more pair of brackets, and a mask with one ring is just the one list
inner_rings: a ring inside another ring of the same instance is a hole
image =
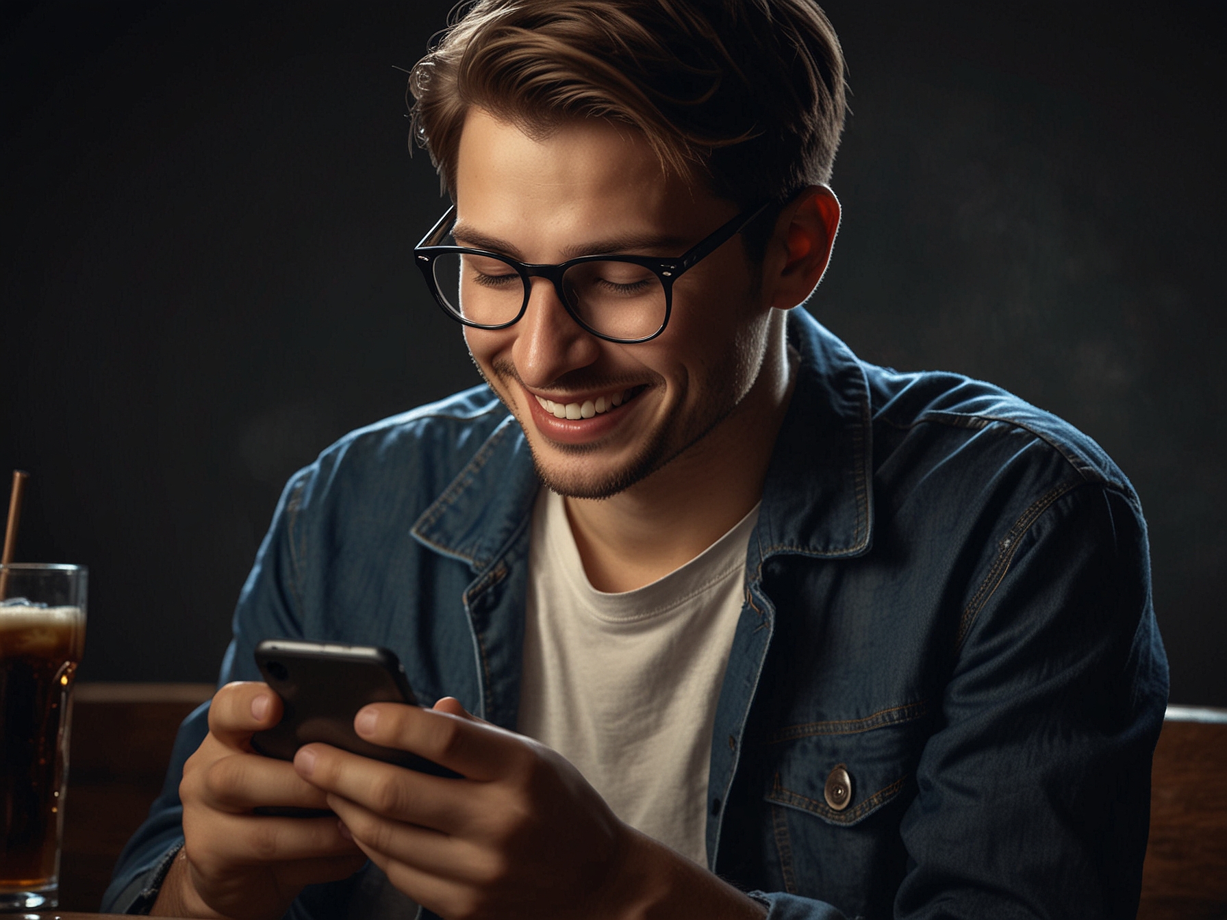
[[[778, 553], [843, 558], [867, 552], [872, 444], [865, 372], [804, 309], [789, 314], [801, 356], [796, 386], [767, 471], [747, 564]], [[540, 481], [519, 423], [508, 415], [412, 527], [425, 546], [476, 573], [528, 526]]]

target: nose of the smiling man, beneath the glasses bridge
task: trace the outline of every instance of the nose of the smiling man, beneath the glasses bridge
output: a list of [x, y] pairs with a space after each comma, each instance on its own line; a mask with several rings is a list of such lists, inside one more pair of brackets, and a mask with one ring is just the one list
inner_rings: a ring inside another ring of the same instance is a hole
[[600, 340], [572, 319], [547, 278], [533, 278], [529, 305], [512, 329], [512, 358], [528, 386], [548, 386], [600, 357]]

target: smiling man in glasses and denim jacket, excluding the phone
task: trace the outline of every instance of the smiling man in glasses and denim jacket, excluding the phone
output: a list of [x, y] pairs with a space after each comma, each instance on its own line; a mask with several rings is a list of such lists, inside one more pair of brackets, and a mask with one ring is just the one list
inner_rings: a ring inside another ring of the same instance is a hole
[[[455, 202], [415, 258], [487, 386], [291, 480], [107, 907], [1135, 910], [1167, 687], [1136, 496], [796, 309], [839, 223], [821, 11], [486, 0], [412, 90]], [[433, 709], [356, 730], [461, 778], [252, 753], [279, 637], [396, 651]]]

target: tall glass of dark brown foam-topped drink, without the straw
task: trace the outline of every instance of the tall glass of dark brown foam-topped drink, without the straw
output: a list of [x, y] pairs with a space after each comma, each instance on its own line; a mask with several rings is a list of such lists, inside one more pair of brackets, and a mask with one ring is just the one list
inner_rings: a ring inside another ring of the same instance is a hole
[[0, 565], [0, 910], [59, 907], [81, 565]]

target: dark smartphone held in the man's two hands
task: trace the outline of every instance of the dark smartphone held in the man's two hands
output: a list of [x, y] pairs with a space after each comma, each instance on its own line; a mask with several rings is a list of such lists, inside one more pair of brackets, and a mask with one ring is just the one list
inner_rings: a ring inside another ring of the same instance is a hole
[[281, 721], [252, 736], [265, 757], [292, 761], [303, 745], [323, 741], [362, 757], [436, 776], [459, 776], [426, 758], [363, 741], [353, 716], [368, 703], [416, 705], [396, 655], [374, 645], [266, 639], [255, 646], [255, 665], [281, 697]]

